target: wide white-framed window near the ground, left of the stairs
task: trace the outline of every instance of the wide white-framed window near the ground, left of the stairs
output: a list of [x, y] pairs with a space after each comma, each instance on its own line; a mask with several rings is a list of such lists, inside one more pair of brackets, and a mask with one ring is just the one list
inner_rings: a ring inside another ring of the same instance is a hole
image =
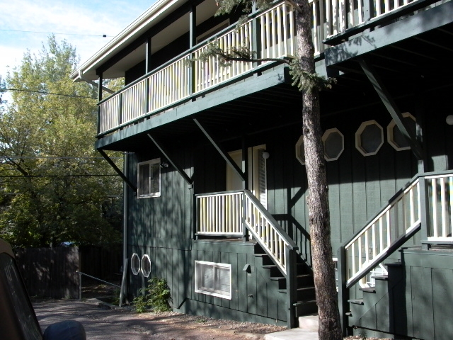
[[195, 261], [195, 293], [231, 300], [231, 264]]

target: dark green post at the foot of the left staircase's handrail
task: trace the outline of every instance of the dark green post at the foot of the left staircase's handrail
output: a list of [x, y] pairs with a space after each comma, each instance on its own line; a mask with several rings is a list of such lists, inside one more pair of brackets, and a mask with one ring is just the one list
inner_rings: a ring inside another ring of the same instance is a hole
[[287, 327], [296, 326], [295, 307], [297, 302], [297, 258], [294, 249], [285, 247], [286, 264], [286, 291], [287, 291]]

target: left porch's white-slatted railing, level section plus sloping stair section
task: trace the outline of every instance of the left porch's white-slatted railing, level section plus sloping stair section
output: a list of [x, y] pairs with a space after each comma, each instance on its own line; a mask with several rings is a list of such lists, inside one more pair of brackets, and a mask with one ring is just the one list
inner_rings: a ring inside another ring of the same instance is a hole
[[282, 273], [296, 244], [250, 191], [197, 195], [197, 234], [243, 236], [243, 222]]

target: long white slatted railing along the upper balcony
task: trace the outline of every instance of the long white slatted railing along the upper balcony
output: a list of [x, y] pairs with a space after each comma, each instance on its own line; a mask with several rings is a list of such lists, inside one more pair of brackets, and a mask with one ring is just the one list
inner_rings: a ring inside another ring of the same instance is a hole
[[[418, 0], [372, 0], [372, 3], [369, 3], [369, 0], [310, 0], [315, 56], [324, 51], [323, 40], [331, 35], [342, 33], [370, 18], [377, 18], [414, 1]], [[367, 10], [369, 6], [372, 7], [371, 10]], [[367, 13], [367, 16], [364, 13]], [[256, 16], [256, 21], [256, 26], [251, 20], [239, 30], [231, 27], [214, 42], [224, 50], [246, 46], [256, 50], [258, 56], [263, 58], [297, 55], [294, 8], [290, 4], [278, 4]], [[258, 31], [254, 31], [254, 27]], [[253, 37], [258, 41], [258, 46], [253, 46]], [[101, 102], [98, 133], [111, 132], [144, 115], [151, 115], [175, 105], [200, 91], [207, 91], [231, 81], [256, 67], [250, 62], [232, 62], [229, 67], [220, 67], [217, 59], [212, 57], [207, 62], [195, 60], [193, 72], [190, 72], [187, 60], [197, 58], [205, 49], [206, 45], [188, 51], [178, 60], [164, 65]]]

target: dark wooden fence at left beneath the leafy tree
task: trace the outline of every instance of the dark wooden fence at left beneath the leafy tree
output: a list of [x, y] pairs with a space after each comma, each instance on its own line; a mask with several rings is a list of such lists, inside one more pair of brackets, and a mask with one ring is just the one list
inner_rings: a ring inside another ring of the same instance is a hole
[[30, 296], [77, 298], [77, 271], [97, 278], [112, 278], [120, 272], [121, 254], [120, 246], [30, 248], [17, 249], [16, 261]]

